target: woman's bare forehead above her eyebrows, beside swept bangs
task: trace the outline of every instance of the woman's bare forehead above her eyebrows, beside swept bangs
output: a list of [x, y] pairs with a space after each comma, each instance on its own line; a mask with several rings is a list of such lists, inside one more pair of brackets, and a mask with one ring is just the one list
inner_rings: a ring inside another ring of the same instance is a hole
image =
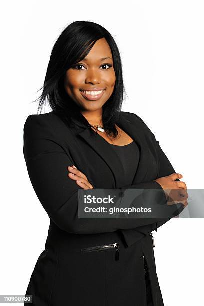
[[83, 59], [85, 61], [101, 60], [104, 57], [112, 58], [112, 52], [105, 38], [95, 42], [88, 55]]

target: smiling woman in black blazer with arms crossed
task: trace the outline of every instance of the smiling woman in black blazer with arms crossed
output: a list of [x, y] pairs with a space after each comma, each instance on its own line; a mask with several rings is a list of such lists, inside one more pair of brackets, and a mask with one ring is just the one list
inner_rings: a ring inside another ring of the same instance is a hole
[[34, 305], [163, 305], [151, 232], [170, 218], [78, 217], [78, 190], [186, 189], [146, 124], [121, 111], [123, 92], [110, 33], [88, 21], [67, 26], [40, 97], [52, 111], [24, 125], [27, 170], [50, 217], [26, 291]]

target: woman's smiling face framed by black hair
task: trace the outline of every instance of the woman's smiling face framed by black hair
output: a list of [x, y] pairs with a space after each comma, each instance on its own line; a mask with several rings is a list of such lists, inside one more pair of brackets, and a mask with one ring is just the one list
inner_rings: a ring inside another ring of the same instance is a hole
[[94, 111], [110, 98], [115, 80], [111, 49], [101, 38], [83, 60], [66, 71], [64, 88], [81, 110]]

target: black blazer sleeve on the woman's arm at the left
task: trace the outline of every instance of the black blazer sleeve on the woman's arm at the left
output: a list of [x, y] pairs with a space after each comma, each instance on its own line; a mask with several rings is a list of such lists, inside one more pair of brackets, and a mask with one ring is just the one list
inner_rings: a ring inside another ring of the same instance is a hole
[[[67, 166], [73, 164], [71, 157], [63, 149], [53, 127], [43, 115], [30, 115], [26, 119], [23, 154], [39, 201], [50, 219], [62, 230], [75, 234], [102, 233], [156, 222], [156, 219], [148, 218], [78, 218], [78, 190], [83, 188], [67, 176]], [[136, 187], [140, 188], [139, 185]], [[159, 184], [153, 182], [150, 185], [158, 188]], [[119, 189], [118, 191], [121, 192]]]

